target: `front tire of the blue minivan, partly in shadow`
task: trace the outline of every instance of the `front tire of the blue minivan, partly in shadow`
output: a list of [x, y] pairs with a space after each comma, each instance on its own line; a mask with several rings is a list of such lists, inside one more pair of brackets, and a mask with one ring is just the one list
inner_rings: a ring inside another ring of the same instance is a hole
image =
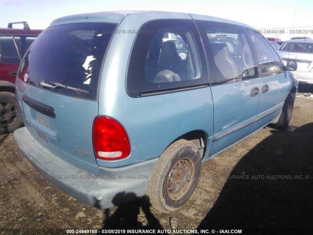
[[278, 121], [276, 123], [270, 124], [270, 127], [279, 130], [284, 130], [288, 127], [293, 111], [293, 103], [294, 103], [294, 94], [289, 93], [285, 100], [285, 104], [283, 106], [283, 110], [279, 116]]

